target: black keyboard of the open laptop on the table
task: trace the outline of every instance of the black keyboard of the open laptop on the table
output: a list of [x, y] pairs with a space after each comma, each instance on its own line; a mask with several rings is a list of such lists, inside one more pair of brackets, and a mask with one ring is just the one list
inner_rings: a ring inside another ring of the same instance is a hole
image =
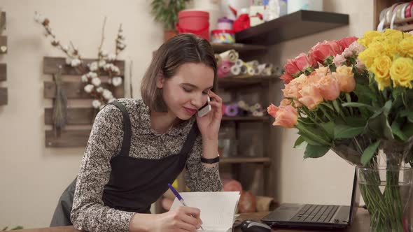
[[292, 222], [330, 222], [339, 205], [304, 205], [297, 214], [290, 219]]

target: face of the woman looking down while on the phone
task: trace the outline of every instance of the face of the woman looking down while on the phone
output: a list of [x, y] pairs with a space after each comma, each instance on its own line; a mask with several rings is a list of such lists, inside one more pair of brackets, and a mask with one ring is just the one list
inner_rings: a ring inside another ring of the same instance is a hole
[[158, 88], [167, 103], [168, 113], [188, 120], [207, 103], [207, 96], [214, 85], [214, 69], [202, 63], [179, 66], [171, 78], [160, 78]]

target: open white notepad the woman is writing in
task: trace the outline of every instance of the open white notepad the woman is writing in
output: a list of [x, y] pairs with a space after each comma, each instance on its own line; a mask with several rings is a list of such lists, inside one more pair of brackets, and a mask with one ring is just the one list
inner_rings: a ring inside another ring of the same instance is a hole
[[[239, 201], [239, 191], [184, 192], [180, 194], [186, 205], [201, 210], [204, 231], [231, 231]], [[171, 210], [179, 206], [181, 203], [175, 198]]]

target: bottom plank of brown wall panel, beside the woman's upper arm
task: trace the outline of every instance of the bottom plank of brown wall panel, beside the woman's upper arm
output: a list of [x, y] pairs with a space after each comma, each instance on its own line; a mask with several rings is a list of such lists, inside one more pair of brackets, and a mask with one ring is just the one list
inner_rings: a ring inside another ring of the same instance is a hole
[[46, 147], [85, 147], [90, 130], [65, 130], [59, 138], [55, 137], [55, 131], [45, 131]]

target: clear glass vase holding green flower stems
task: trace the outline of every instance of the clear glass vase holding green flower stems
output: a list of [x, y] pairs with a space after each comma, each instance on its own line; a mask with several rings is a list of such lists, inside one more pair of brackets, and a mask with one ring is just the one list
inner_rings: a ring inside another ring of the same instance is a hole
[[413, 169], [387, 166], [357, 170], [370, 214], [370, 232], [412, 232]]

